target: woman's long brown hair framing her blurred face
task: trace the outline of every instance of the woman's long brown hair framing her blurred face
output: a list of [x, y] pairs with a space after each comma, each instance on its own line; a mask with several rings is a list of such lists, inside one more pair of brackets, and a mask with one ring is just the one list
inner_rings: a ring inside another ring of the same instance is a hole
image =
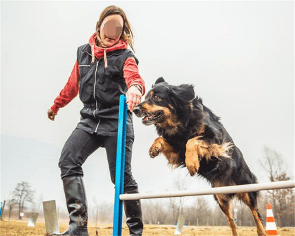
[[125, 12], [120, 7], [111, 5], [111, 6], [106, 7], [102, 11], [102, 13], [100, 14], [99, 20], [96, 23], [96, 34], [98, 35], [98, 38], [99, 38], [100, 26], [101, 26], [104, 18], [106, 18], [107, 16], [110, 16], [110, 15], [122, 16], [124, 24], [123, 24], [123, 31], [122, 31], [122, 35], [121, 35], [120, 39], [127, 42], [129, 44], [129, 46], [132, 48], [132, 50], [135, 51], [133, 48], [133, 33], [132, 33], [131, 25], [126, 17]]

